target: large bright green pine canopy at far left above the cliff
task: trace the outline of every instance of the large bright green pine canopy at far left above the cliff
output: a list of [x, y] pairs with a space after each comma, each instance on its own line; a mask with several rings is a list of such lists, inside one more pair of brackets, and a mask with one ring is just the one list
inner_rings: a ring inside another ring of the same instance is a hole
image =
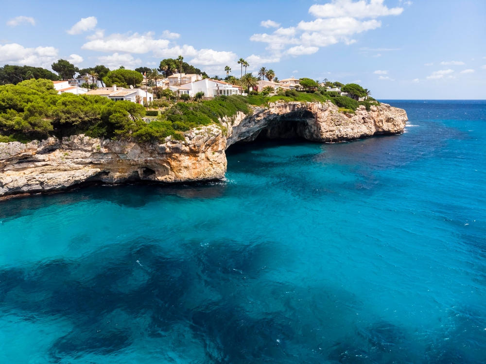
[[[58, 95], [50, 80], [0, 86], [0, 142], [66, 137], [128, 135], [143, 127], [145, 108], [106, 97]], [[124, 134], [126, 133], [126, 134]]]

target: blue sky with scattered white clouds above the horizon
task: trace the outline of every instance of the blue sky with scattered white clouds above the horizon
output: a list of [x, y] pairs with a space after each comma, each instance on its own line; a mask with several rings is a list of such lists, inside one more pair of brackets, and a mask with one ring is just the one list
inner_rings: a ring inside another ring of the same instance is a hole
[[379, 99], [486, 99], [484, 0], [33, 1], [2, 4], [0, 65], [155, 68], [357, 82]]

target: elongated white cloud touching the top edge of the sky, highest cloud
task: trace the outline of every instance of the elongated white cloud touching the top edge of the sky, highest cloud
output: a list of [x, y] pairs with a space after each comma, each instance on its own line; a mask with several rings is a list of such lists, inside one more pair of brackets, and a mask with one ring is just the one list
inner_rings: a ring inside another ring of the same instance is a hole
[[403, 8], [391, 8], [383, 5], [383, 0], [332, 0], [328, 4], [314, 4], [309, 13], [316, 17], [385, 17], [388, 15], [400, 15]]

